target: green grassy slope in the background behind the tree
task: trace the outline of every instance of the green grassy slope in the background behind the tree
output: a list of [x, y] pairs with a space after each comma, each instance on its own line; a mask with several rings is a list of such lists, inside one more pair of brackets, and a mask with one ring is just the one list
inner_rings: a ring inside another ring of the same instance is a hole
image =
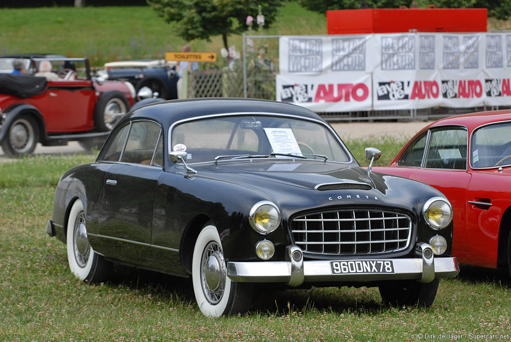
[[[280, 9], [278, 22], [264, 34], [326, 34], [325, 16], [294, 2]], [[247, 13], [247, 15], [250, 13]], [[253, 17], [257, 13], [251, 13]], [[0, 9], [0, 54], [57, 53], [87, 56], [92, 65], [129, 58], [163, 58], [166, 51], [181, 51], [184, 40], [173, 34], [149, 6], [146, 7], [51, 7]], [[221, 37], [211, 42], [189, 42], [193, 51], [218, 53]], [[229, 45], [242, 50], [241, 36], [229, 36]]]

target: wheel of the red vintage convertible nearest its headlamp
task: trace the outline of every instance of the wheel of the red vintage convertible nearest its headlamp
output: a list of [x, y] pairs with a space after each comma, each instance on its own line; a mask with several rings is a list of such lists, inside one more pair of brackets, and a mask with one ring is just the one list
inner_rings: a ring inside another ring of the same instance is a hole
[[94, 109], [94, 125], [100, 132], [107, 132], [129, 110], [129, 102], [123, 93], [111, 90], [101, 95]]

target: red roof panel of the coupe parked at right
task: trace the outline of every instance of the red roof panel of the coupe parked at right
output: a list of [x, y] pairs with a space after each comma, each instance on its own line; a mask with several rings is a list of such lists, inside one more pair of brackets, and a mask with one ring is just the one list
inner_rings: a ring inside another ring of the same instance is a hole
[[472, 131], [487, 123], [507, 120], [511, 121], [511, 109], [480, 111], [440, 119], [426, 126], [423, 131], [432, 127], [445, 125], [466, 126], [469, 131]]

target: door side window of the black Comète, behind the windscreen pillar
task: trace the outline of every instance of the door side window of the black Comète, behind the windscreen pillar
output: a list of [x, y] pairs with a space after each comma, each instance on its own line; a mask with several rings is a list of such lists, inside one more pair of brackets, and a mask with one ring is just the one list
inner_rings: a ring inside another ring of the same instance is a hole
[[154, 122], [133, 122], [121, 162], [151, 165], [160, 135], [161, 128]]

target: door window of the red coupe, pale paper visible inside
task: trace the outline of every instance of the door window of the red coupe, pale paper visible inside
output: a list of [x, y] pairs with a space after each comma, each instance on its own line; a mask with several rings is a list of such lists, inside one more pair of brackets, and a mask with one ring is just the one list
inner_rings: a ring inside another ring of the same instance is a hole
[[465, 170], [467, 168], [468, 133], [461, 128], [431, 132], [426, 168]]

